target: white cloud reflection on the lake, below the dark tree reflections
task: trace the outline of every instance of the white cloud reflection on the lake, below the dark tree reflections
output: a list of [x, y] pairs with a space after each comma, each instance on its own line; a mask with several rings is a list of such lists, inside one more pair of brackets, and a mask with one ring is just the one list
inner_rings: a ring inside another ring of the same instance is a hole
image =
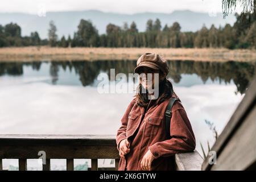
[[[11, 82], [11, 81], [10, 81]], [[25, 82], [22, 78], [20, 82]], [[213, 135], [205, 119], [224, 129], [243, 96], [235, 85], [175, 86], [197, 139]], [[9, 84], [0, 89], [2, 134], [116, 134], [133, 94], [99, 94], [92, 86], [50, 85], [45, 82]]]

